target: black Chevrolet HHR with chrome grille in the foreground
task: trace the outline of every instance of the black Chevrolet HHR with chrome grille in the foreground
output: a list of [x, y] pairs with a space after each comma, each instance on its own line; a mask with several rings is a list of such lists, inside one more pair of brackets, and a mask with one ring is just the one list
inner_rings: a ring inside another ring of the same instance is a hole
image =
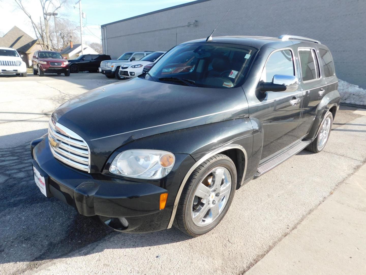
[[42, 193], [117, 231], [175, 225], [198, 236], [220, 223], [237, 188], [324, 148], [340, 101], [325, 45], [209, 38], [57, 108], [31, 142]]

